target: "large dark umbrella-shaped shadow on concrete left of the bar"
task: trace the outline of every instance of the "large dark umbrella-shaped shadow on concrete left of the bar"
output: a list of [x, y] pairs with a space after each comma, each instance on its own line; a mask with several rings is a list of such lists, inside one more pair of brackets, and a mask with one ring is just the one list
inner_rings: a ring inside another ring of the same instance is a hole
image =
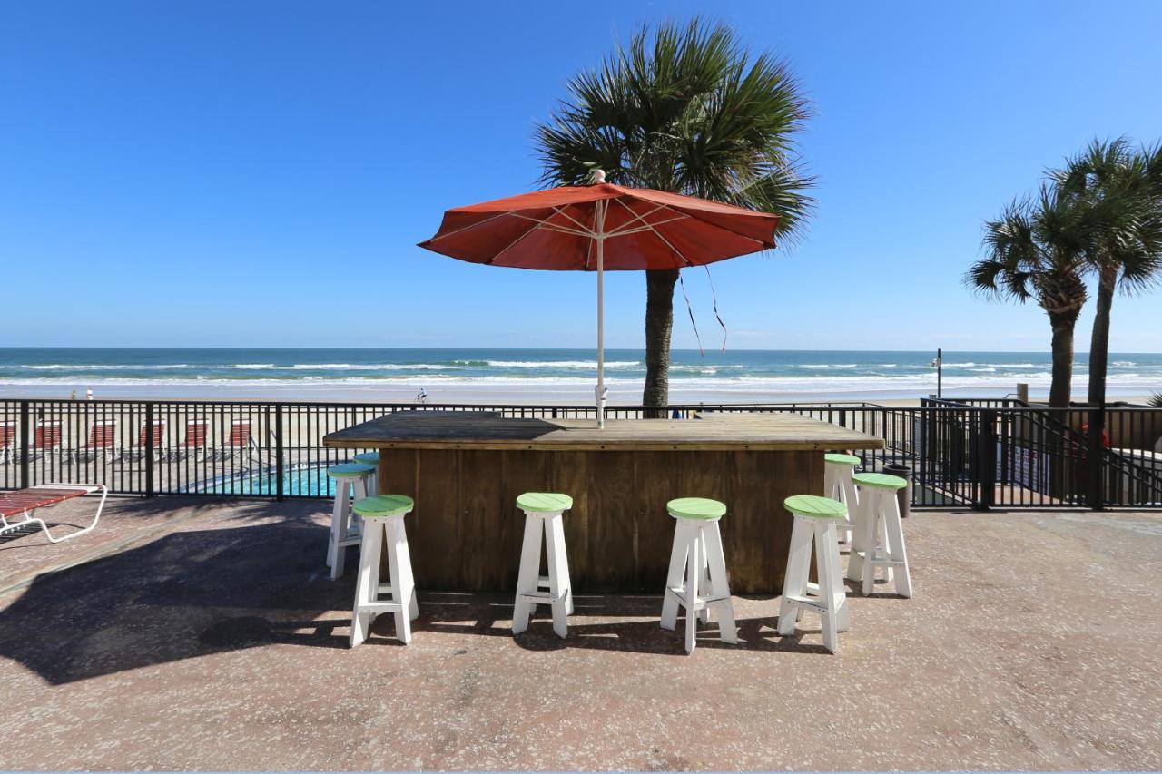
[[[259, 510], [272, 515], [256, 503], [239, 518]], [[353, 572], [327, 576], [325, 535], [297, 513], [172, 532], [44, 575], [0, 611], [0, 655], [65, 683], [271, 643], [345, 646], [336, 622], [314, 621], [350, 607], [354, 590]]]

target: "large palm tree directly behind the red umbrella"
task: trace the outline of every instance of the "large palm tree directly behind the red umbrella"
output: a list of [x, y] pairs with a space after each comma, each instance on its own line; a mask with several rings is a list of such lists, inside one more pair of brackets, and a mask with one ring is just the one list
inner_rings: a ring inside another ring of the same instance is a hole
[[[751, 57], [729, 27], [643, 27], [567, 91], [537, 128], [545, 185], [583, 185], [600, 167], [610, 182], [775, 213], [776, 237], [801, 234], [813, 203], [795, 151], [806, 99], [786, 63]], [[645, 406], [669, 399], [677, 277], [646, 272]]]

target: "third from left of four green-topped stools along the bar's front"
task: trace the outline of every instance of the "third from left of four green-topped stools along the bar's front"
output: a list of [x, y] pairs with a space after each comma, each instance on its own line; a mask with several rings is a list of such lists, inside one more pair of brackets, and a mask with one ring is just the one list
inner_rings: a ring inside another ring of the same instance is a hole
[[[697, 618], [710, 623], [710, 611], [718, 617], [718, 636], [724, 643], [738, 644], [734, 628], [734, 604], [726, 580], [718, 521], [726, 506], [704, 497], [680, 497], [666, 503], [674, 517], [674, 547], [669, 554], [666, 594], [661, 603], [661, 628], [677, 628], [677, 608], [686, 608], [686, 652], [693, 653]], [[703, 588], [704, 587], [704, 588]]]

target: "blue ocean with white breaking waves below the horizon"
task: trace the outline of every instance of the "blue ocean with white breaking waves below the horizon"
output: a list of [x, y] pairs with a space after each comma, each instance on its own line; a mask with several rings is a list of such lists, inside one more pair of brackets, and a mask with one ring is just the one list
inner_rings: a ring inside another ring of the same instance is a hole
[[[935, 393], [935, 352], [676, 350], [674, 402], [913, 399]], [[1110, 358], [1111, 396], [1162, 390], [1162, 353]], [[593, 350], [517, 349], [0, 349], [0, 397], [286, 399], [589, 403]], [[609, 350], [615, 403], [637, 403], [640, 350]], [[1075, 397], [1086, 358], [1078, 356]], [[1000, 396], [1049, 387], [1046, 352], [945, 352], [946, 395]]]

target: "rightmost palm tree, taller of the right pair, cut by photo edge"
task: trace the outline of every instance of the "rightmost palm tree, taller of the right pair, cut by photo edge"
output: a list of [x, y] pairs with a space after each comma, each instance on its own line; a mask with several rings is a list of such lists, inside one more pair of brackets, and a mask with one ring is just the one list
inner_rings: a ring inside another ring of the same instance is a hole
[[1089, 213], [1085, 260], [1097, 275], [1089, 402], [1102, 406], [1114, 293], [1142, 291], [1162, 273], [1162, 145], [1135, 150], [1125, 138], [1093, 141], [1050, 174], [1062, 195]]

